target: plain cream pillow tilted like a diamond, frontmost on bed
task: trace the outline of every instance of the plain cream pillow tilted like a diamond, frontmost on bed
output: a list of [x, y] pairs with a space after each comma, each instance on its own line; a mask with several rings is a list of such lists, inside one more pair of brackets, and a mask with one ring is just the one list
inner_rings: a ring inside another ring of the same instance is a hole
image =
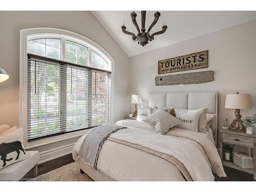
[[157, 133], [164, 135], [170, 128], [181, 123], [179, 119], [168, 114], [162, 109], [158, 109], [155, 113], [142, 120], [143, 122], [154, 126]]

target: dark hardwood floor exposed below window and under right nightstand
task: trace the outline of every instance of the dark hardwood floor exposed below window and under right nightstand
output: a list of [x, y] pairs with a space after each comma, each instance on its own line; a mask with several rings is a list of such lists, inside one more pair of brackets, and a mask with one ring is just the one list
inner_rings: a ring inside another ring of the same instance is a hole
[[[38, 165], [38, 175], [48, 173], [51, 170], [54, 170], [72, 162], [74, 162], [74, 160], [72, 158], [72, 154], [70, 154], [42, 163]], [[248, 174], [246, 172], [242, 172], [241, 170], [236, 170], [226, 166], [224, 166], [224, 170], [227, 177], [218, 177], [216, 174], [214, 174], [215, 181], [254, 181], [252, 174]], [[32, 170], [30, 170], [30, 172], [24, 178], [33, 178]]]

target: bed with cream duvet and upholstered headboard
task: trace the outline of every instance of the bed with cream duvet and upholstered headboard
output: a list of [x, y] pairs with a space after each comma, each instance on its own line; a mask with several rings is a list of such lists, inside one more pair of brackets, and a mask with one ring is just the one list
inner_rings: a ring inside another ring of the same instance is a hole
[[211, 130], [205, 134], [172, 128], [165, 135], [158, 135], [154, 127], [144, 122], [117, 121], [116, 124], [130, 129], [114, 133], [104, 141], [97, 170], [78, 157], [85, 136], [77, 141], [73, 158], [80, 169], [95, 181], [213, 181], [212, 172], [226, 176], [215, 147], [217, 92], [152, 93], [148, 105], [208, 108], [208, 113], [214, 117]]

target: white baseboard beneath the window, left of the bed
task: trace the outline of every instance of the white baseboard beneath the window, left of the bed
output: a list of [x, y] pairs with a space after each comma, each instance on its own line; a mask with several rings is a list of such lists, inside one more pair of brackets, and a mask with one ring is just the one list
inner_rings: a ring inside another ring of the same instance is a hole
[[75, 143], [71, 143], [68, 145], [52, 148], [51, 150], [39, 152], [40, 160], [39, 160], [38, 164], [71, 154], [74, 145], [75, 145]]

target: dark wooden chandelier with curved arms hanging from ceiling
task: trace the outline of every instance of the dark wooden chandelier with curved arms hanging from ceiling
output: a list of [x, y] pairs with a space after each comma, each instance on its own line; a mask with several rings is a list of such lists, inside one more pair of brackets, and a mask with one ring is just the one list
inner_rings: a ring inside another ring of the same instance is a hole
[[152, 41], [154, 39], [155, 35], [160, 35], [160, 34], [164, 33], [165, 30], [167, 29], [167, 26], [163, 25], [161, 31], [155, 32], [152, 35], [150, 35], [150, 30], [156, 25], [160, 15], [161, 14], [158, 11], [154, 14], [155, 19], [153, 20], [151, 26], [148, 28], [147, 32], [145, 32], [146, 31], [146, 29], [145, 29], [146, 11], [141, 11], [141, 31], [136, 22], [137, 14], [135, 13], [135, 11], [133, 11], [131, 13], [131, 17], [132, 17], [132, 22], [138, 31], [137, 36], [130, 31], [126, 31], [126, 27], [124, 26], [124, 24], [121, 27], [122, 31], [123, 31], [123, 33], [125, 33], [127, 35], [132, 35], [132, 39], [134, 41], [138, 41], [138, 44], [140, 44], [142, 47], [144, 47], [146, 44], [148, 44], [148, 41]]

